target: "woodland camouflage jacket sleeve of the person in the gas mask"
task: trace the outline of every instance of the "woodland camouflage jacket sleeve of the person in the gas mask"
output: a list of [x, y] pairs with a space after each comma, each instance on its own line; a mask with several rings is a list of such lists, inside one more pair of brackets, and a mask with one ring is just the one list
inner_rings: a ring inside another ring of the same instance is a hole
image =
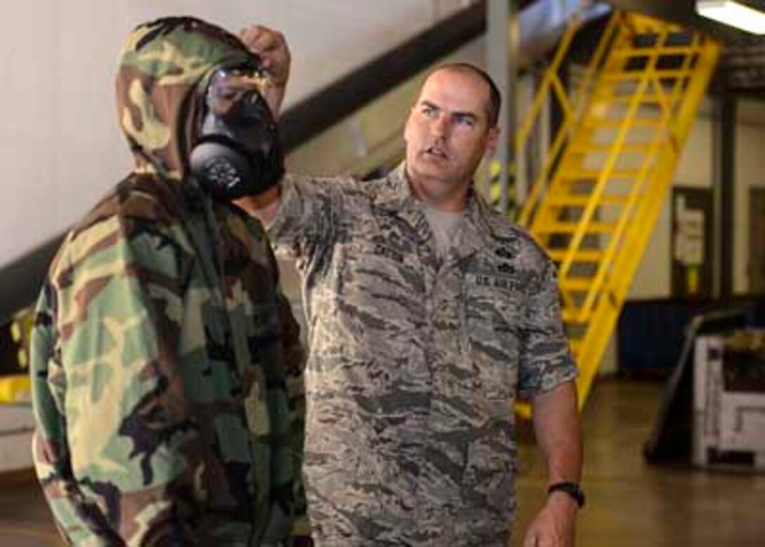
[[154, 227], [125, 236], [112, 218], [51, 269], [33, 333], [34, 463], [76, 545], [201, 541], [200, 449], [177, 370], [179, 252]]

